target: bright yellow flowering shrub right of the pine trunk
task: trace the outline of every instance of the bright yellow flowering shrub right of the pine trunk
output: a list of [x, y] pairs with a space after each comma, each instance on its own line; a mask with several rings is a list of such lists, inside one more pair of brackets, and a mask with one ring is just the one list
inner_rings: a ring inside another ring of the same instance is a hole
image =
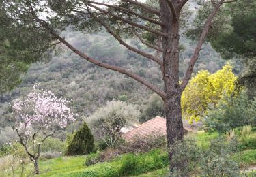
[[199, 71], [182, 93], [183, 117], [190, 123], [200, 120], [207, 114], [210, 105], [216, 106], [225, 95], [230, 97], [236, 93], [236, 78], [229, 64], [214, 74]]

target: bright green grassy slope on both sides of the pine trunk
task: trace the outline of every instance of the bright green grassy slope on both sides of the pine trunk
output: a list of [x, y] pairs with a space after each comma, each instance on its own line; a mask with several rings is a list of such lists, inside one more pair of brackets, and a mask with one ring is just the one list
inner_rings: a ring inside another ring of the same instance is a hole
[[[191, 136], [197, 139], [199, 146], [207, 148], [210, 144], [210, 140], [216, 138], [218, 134], [197, 133]], [[119, 172], [123, 159], [128, 156], [129, 155], [121, 155], [119, 158], [113, 159], [112, 161], [97, 163], [89, 167], [83, 165], [86, 156], [59, 157], [40, 161], [40, 176], [120, 176]], [[165, 152], [165, 150], [153, 150], [152, 152], [138, 155], [136, 156], [136, 159], [138, 159], [136, 167], [130, 170], [132, 172], [128, 174], [133, 176], [165, 176], [168, 165], [168, 162], [166, 162], [167, 158], [167, 152]], [[256, 165], [256, 149], [238, 152], [233, 156], [233, 159], [238, 161], [242, 167]], [[27, 165], [25, 174], [28, 175], [32, 171], [33, 165]]]

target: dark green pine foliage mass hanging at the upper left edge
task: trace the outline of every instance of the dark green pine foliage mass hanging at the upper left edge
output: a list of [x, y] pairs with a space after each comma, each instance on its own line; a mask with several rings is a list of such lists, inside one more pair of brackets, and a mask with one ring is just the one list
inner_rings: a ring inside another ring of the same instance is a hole
[[[14, 20], [8, 6], [0, 1], [0, 93], [12, 90], [21, 82], [20, 75], [28, 66], [47, 57], [53, 42], [46, 31], [33, 28], [29, 22]], [[12, 5], [13, 7], [14, 5]], [[23, 14], [24, 15], [24, 14]], [[18, 17], [23, 19], [23, 17]], [[49, 57], [49, 56], [48, 56]]]

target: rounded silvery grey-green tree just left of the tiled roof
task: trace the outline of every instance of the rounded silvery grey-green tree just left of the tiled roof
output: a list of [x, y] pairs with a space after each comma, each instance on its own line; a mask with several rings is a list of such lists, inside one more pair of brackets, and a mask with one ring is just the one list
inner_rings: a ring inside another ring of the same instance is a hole
[[87, 118], [98, 142], [112, 146], [120, 139], [121, 128], [137, 123], [139, 110], [123, 101], [109, 101], [106, 106], [99, 108]]

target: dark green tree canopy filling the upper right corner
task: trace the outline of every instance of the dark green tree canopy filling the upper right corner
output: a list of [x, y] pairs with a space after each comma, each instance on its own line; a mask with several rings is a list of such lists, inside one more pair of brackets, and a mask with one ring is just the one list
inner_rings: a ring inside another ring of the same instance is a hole
[[[203, 3], [205, 6], [206, 3]], [[199, 10], [193, 29], [188, 30], [192, 39], [198, 37], [201, 23], [205, 19], [207, 10]], [[212, 22], [212, 31], [208, 34], [208, 41], [224, 59], [236, 58], [245, 64], [244, 71], [240, 74], [240, 84], [248, 88], [248, 95], [256, 95], [256, 3], [253, 0], [234, 1], [227, 3], [216, 15]]]

